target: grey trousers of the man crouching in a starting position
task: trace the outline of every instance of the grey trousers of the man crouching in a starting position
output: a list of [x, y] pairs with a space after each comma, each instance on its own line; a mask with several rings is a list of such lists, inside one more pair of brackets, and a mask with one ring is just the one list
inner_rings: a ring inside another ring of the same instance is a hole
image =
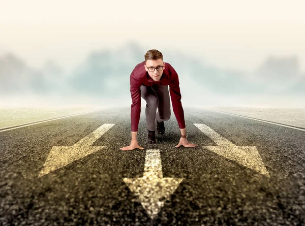
[[168, 85], [141, 85], [141, 97], [146, 101], [145, 116], [147, 129], [155, 131], [156, 119], [158, 122], [162, 122], [170, 118]]

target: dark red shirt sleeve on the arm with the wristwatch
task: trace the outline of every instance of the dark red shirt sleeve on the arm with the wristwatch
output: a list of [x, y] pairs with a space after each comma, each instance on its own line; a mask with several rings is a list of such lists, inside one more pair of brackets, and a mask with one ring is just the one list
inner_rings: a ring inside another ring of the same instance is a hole
[[184, 118], [184, 110], [181, 104], [181, 93], [179, 87], [178, 74], [174, 70], [174, 68], [169, 65], [169, 63], [167, 63], [167, 66], [169, 67], [170, 77], [172, 77], [172, 80], [169, 82], [168, 86], [169, 86], [169, 93], [173, 106], [173, 111], [176, 116], [179, 128], [185, 128], [186, 122]]

